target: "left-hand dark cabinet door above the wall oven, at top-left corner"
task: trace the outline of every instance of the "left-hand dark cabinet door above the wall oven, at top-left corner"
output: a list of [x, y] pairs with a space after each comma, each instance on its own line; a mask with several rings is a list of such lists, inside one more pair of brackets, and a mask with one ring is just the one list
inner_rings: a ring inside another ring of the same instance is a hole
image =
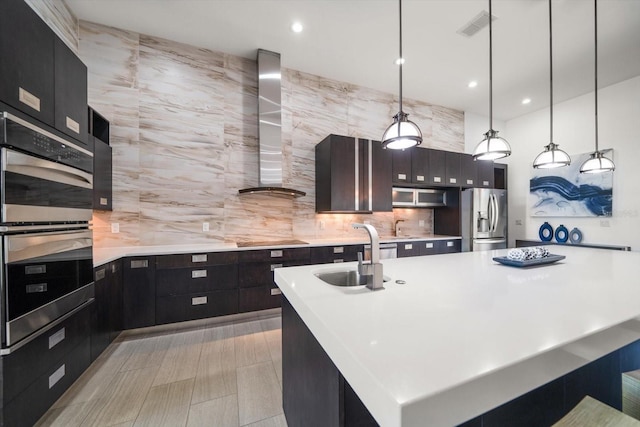
[[54, 125], [55, 39], [24, 0], [2, 2], [0, 100], [50, 126]]

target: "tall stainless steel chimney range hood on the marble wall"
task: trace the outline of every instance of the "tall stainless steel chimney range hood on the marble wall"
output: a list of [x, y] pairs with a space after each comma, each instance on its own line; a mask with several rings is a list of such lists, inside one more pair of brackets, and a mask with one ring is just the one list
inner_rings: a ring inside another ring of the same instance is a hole
[[258, 49], [259, 186], [239, 194], [301, 197], [306, 193], [282, 186], [282, 105], [280, 54]]

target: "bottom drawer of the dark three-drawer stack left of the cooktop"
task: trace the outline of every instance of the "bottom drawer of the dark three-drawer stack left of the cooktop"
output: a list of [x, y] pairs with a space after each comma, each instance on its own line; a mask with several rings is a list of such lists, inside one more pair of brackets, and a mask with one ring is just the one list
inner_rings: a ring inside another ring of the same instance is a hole
[[183, 322], [238, 312], [238, 290], [158, 297], [156, 323]]

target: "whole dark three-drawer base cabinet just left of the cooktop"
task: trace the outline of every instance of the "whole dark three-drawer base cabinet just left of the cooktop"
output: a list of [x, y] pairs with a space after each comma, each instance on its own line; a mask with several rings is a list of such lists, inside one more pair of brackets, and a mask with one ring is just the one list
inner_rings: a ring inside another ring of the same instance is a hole
[[156, 256], [156, 323], [238, 312], [238, 253]]

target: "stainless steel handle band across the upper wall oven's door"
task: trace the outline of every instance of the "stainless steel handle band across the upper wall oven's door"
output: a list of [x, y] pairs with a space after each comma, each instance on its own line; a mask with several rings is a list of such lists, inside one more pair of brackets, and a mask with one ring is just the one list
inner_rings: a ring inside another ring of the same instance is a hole
[[3, 150], [3, 169], [21, 175], [60, 182], [81, 188], [93, 188], [93, 175], [61, 163], [13, 151]]

